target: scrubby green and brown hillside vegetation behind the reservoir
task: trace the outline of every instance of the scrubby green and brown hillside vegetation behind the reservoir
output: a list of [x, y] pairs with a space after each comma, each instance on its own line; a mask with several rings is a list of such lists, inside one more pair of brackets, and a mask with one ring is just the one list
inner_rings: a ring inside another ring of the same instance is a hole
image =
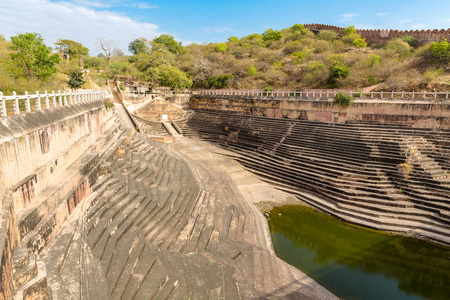
[[[34, 35], [43, 45], [40, 35]], [[61, 39], [55, 43], [56, 49], [70, 59], [55, 58], [54, 68], [50, 67], [46, 76], [30, 71], [28, 65], [18, 59], [16, 54], [24, 45], [17, 45], [15, 38], [6, 41], [0, 36], [0, 91], [6, 94], [12, 90], [89, 88], [104, 85], [107, 79], [115, 77], [132, 77], [147, 81], [151, 86], [179, 89], [450, 90], [447, 41], [419, 44], [413, 37], [406, 36], [383, 45], [367, 45], [353, 26], [339, 36], [327, 30], [314, 34], [303, 25], [295, 24], [241, 38], [231, 36], [223, 43], [184, 47], [166, 34], [153, 40], [135, 39], [129, 45], [132, 55], [128, 56], [115, 49], [112, 41], [101, 39], [99, 49], [103, 53], [91, 56], [81, 43]], [[41, 55], [38, 64], [52, 61], [50, 57], [54, 54], [50, 47], [45, 47], [49, 51], [45, 54], [47, 58], [43, 60], [42, 53], [37, 54]], [[29, 52], [27, 47], [22, 50]], [[81, 81], [71, 78], [80, 70], [79, 55], [84, 60], [85, 80]], [[79, 84], [73, 86], [73, 82]]]

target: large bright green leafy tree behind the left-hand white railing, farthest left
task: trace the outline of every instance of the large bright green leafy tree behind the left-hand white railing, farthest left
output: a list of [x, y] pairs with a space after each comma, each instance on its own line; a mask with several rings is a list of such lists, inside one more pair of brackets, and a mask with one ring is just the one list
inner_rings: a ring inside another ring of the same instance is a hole
[[11, 37], [11, 59], [16, 67], [22, 69], [25, 76], [41, 79], [51, 77], [58, 71], [58, 54], [51, 54], [51, 48], [44, 44], [38, 33], [22, 33]]

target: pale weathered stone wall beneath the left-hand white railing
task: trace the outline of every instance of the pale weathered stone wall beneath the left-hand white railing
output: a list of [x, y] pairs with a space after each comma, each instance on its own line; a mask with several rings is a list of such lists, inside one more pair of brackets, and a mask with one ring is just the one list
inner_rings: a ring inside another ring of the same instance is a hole
[[[37, 209], [28, 215], [27, 211], [44, 198], [44, 190], [69, 180], [69, 166], [108, 131], [114, 119], [113, 110], [107, 110], [103, 100], [0, 118], [0, 299], [13, 297], [12, 253], [28, 229], [25, 225], [46, 217]], [[92, 155], [85, 167], [89, 169], [94, 161]], [[89, 193], [87, 182], [73, 173], [71, 181], [47, 195], [63, 199], [64, 205], [58, 204], [59, 212], [48, 222], [51, 226], [36, 240], [38, 247]]]

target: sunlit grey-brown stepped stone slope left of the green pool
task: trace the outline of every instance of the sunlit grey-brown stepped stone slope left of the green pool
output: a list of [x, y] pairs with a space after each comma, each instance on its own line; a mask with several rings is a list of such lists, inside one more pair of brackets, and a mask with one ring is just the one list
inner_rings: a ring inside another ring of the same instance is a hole
[[336, 299], [273, 254], [228, 175], [188, 158], [196, 143], [117, 132], [91, 195], [40, 254], [53, 299]]

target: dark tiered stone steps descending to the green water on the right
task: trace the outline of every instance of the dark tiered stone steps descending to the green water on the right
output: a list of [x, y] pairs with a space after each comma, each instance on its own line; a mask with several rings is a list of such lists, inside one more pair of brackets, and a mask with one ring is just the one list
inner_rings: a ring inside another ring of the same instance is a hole
[[339, 218], [450, 243], [449, 130], [197, 112], [183, 133]]

